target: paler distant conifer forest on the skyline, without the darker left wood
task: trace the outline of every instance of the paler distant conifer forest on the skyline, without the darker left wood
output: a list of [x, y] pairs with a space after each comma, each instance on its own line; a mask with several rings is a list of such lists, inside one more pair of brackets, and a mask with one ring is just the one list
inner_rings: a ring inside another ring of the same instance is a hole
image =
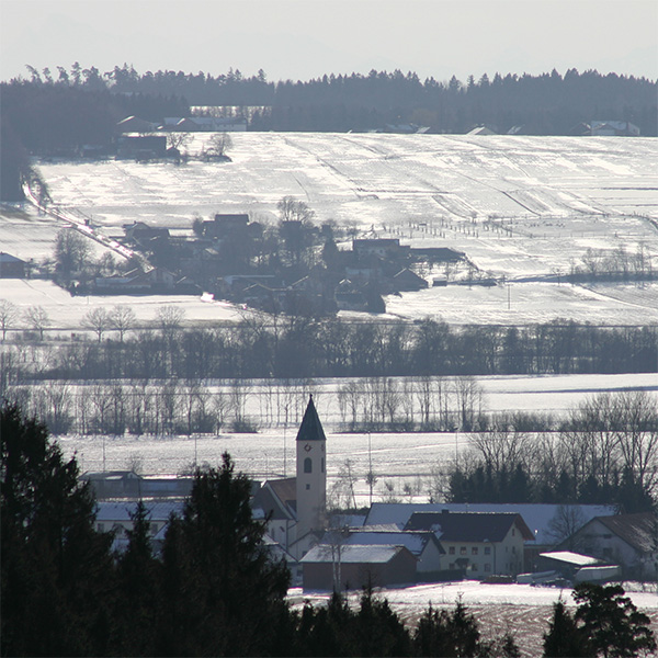
[[[73, 65], [75, 66], [75, 65]], [[30, 84], [110, 89], [115, 94], [184, 98], [191, 105], [251, 107], [252, 129], [344, 132], [382, 128], [386, 124], [416, 123], [439, 133], [465, 133], [487, 124], [499, 133], [522, 126], [524, 134], [568, 135], [580, 122], [622, 120], [656, 135], [656, 82], [634, 76], [579, 72], [532, 76], [484, 73], [466, 81], [421, 80], [404, 73], [371, 70], [330, 73], [310, 80], [268, 81], [239, 70], [207, 72], [158, 70], [138, 73], [132, 66], [115, 66], [101, 73], [94, 67], [66, 71], [57, 78], [30, 69]], [[25, 83], [25, 81], [23, 81]], [[147, 118], [147, 117], [145, 117]]]

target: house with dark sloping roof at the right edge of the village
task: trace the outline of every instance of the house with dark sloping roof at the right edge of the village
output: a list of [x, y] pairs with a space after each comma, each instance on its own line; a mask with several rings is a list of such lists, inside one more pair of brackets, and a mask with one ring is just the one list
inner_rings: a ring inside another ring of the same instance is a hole
[[595, 517], [558, 548], [567, 545], [619, 564], [625, 578], [658, 577], [658, 518], [651, 512]]

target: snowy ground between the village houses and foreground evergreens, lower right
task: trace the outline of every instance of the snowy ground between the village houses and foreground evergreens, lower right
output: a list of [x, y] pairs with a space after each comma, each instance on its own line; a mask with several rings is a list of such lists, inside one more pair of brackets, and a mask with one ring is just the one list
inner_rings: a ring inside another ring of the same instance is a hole
[[[654, 633], [658, 634], [658, 595], [655, 583], [653, 590], [647, 588], [647, 591], [631, 591], [640, 590], [642, 586], [624, 585], [626, 595], [649, 615]], [[468, 612], [477, 619], [484, 637], [492, 638], [510, 631], [523, 658], [542, 655], [543, 634], [548, 629], [553, 604], [560, 598], [567, 605], [574, 604], [570, 590], [530, 585], [484, 585], [472, 580], [383, 589], [377, 593], [388, 600], [392, 609], [410, 627], [415, 626], [430, 602], [433, 608], [452, 608], [461, 599]], [[359, 597], [359, 592], [350, 594], [350, 605], [358, 608]], [[305, 601], [318, 605], [328, 598], [327, 592], [304, 592], [302, 589], [288, 591], [288, 600], [297, 610]]]

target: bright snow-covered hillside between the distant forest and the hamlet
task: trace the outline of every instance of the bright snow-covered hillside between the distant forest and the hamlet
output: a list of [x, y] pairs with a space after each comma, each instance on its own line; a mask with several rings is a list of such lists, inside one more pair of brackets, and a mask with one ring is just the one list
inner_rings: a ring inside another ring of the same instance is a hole
[[[190, 151], [208, 137], [194, 136]], [[195, 213], [250, 212], [273, 222], [276, 203], [293, 195], [320, 222], [451, 247], [511, 282], [509, 291], [449, 286], [389, 297], [394, 316], [455, 324], [658, 321], [656, 284], [564, 283], [587, 249], [634, 254], [642, 246], [658, 256], [655, 139], [243, 133], [232, 140], [228, 163], [42, 161], [38, 169], [56, 203], [112, 237], [134, 220], [189, 229]], [[20, 258], [52, 252], [50, 220], [31, 218], [19, 231], [5, 212], [0, 217], [0, 249]], [[549, 275], [560, 275], [560, 284], [520, 281]]]

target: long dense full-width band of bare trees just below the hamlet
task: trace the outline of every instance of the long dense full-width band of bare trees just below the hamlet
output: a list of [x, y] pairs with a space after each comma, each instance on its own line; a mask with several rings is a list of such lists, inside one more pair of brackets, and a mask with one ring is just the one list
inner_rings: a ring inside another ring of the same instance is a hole
[[[125, 313], [124, 313], [125, 311]], [[529, 327], [350, 322], [261, 315], [236, 325], [185, 328], [164, 306], [150, 327], [131, 325], [125, 308], [90, 311], [98, 340], [43, 340], [48, 314], [24, 316], [33, 333], [5, 340], [5, 385], [26, 379], [181, 379], [645, 373], [658, 362], [656, 327], [597, 327], [553, 320]], [[0, 304], [0, 330], [21, 325], [18, 307]], [[124, 321], [125, 320], [125, 321]], [[127, 324], [128, 322], [128, 324]]]

